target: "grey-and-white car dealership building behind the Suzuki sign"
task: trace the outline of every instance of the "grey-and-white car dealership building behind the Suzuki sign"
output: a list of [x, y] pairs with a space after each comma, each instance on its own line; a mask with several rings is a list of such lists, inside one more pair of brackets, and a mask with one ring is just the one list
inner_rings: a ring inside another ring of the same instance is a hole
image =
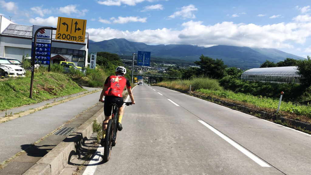
[[[23, 56], [31, 55], [33, 26], [18, 25], [0, 16], [0, 56], [22, 61]], [[80, 67], [87, 67], [88, 33], [84, 42], [55, 40], [52, 31], [51, 64], [69, 61]]]

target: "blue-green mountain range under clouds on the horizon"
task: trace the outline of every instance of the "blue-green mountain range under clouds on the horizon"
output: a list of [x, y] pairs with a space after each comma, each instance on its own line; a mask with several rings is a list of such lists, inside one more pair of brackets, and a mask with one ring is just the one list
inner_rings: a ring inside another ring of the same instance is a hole
[[142, 42], [131, 42], [126, 39], [111, 39], [100, 42], [89, 42], [89, 52], [109, 52], [118, 55], [131, 56], [137, 51], [151, 52], [154, 58], [186, 60], [189, 63], [200, 60], [200, 56], [222, 59], [228, 67], [240, 69], [259, 68], [266, 60], [277, 63], [286, 58], [304, 59], [294, 54], [272, 48], [249, 48], [228, 45], [216, 45], [212, 47], [200, 47], [196, 45], [147, 45]]

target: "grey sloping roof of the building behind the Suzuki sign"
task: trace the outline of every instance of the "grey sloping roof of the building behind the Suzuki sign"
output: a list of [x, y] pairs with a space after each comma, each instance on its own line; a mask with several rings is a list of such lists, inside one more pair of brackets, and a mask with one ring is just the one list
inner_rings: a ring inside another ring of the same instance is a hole
[[[25, 25], [19, 25], [19, 24], [10, 24], [1, 33], [1, 35], [2, 36], [32, 38], [32, 26], [25, 26]], [[56, 35], [56, 30], [53, 30], [52, 31], [52, 40], [53, 41], [64, 41], [64, 42], [79, 43], [79, 44], [83, 43], [83, 42], [67, 41], [67, 40], [55, 40], [55, 35]], [[87, 43], [88, 37], [89, 37], [89, 33], [85, 33], [84, 44]]]

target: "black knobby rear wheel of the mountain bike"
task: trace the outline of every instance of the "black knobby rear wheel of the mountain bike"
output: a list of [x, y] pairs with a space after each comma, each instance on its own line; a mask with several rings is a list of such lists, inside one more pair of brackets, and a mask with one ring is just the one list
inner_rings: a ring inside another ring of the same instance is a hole
[[107, 162], [110, 158], [112, 141], [113, 141], [113, 128], [114, 122], [112, 119], [108, 121], [106, 136], [104, 138], [104, 162]]

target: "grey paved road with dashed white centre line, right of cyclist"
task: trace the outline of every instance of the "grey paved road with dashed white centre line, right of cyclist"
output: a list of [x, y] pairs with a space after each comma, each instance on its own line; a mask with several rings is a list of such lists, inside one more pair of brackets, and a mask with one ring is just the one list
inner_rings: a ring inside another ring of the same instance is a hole
[[308, 134], [162, 87], [133, 94], [110, 160], [89, 166], [95, 175], [311, 172]]

